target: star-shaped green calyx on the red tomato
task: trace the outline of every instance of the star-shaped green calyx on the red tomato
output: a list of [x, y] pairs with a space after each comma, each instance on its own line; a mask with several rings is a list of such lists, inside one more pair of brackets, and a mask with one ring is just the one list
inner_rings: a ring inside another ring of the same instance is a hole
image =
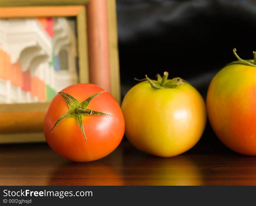
[[58, 125], [58, 123], [60, 123], [63, 119], [65, 119], [66, 117], [74, 117], [80, 127], [80, 129], [83, 132], [83, 136], [85, 138], [85, 141], [87, 142], [87, 138], [84, 132], [84, 128], [83, 128], [83, 116], [88, 116], [88, 115], [105, 115], [105, 116], [111, 116], [109, 114], [105, 114], [103, 112], [98, 112], [98, 111], [94, 111], [94, 110], [90, 110], [88, 109], [88, 105], [90, 103], [90, 101], [95, 98], [96, 96], [98, 96], [99, 94], [106, 92], [106, 91], [102, 91], [102, 92], [98, 92], [96, 94], [93, 94], [92, 96], [88, 97], [86, 100], [79, 102], [77, 99], [75, 99], [73, 96], [71, 96], [70, 94], [64, 93], [64, 92], [58, 92], [63, 99], [66, 101], [67, 106], [69, 108], [69, 111], [66, 114], [63, 114], [54, 124], [54, 126], [52, 127], [51, 132], [53, 131], [53, 129], [56, 127], [56, 125]]

